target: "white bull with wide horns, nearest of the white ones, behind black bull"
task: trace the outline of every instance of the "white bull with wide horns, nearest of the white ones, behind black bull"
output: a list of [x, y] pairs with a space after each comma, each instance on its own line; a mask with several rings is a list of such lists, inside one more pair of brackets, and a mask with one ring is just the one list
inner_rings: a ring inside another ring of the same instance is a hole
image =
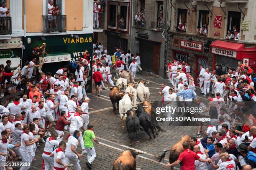
[[127, 116], [126, 113], [128, 110], [132, 109], [131, 99], [129, 97], [132, 94], [128, 92], [121, 92], [121, 93], [116, 93], [115, 95], [123, 95], [123, 98], [119, 101], [118, 109], [119, 109], [119, 114], [122, 120], [122, 128], [124, 128], [124, 122]]

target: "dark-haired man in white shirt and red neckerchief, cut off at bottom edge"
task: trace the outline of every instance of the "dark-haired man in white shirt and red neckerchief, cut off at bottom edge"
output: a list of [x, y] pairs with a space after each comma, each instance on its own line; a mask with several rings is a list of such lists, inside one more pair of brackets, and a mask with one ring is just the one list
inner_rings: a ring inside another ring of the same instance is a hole
[[59, 147], [55, 149], [53, 153], [51, 153], [50, 157], [54, 157], [54, 170], [65, 170], [67, 168], [67, 159], [64, 154], [65, 149], [66, 143], [64, 141], [61, 141], [59, 143]]

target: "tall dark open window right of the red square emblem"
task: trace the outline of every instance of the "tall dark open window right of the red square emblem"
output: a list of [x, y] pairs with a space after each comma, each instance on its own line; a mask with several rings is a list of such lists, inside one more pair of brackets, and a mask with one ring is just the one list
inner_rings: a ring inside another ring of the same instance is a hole
[[241, 23], [241, 12], [228, 12], [228, 30], [234, 31], [233, 27], [235, 26], [236, 29], [240, 29]]

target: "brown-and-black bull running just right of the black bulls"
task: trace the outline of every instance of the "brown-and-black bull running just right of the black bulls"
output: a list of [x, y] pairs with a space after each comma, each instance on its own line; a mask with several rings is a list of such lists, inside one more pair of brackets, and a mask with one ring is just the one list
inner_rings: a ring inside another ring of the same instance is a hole
[[152, 124], [154, 126], [154, 130], [156, 130], [156, 135], [158, 135], [158, 131], [166, 131], [160, 127], [159, 121], [156, 121], [156, 108], [152, 107], [151, 103], [148, 100], [142, 102], [142, 106], [144, 107], [145, 112], [151, 117]]

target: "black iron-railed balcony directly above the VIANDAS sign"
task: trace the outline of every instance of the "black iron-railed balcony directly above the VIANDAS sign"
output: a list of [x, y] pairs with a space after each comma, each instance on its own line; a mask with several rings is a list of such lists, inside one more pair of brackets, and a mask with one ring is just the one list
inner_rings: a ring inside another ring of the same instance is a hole
[[43, 32], [67, 31], [67, 15], [43, 16]]

